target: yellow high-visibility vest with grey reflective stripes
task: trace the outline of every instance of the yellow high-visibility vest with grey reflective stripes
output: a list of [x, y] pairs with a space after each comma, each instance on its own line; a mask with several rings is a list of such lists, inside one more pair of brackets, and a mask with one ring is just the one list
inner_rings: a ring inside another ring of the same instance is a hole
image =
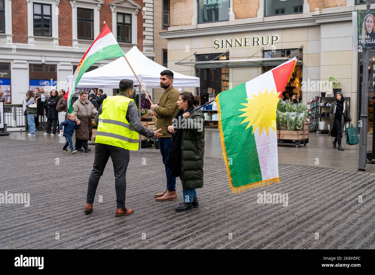
[[126, 120], [127, 106], [134, 100], [126, 96], [111, 96], [103, 101], [95, 143], [104, 143], [128, 150], [138, 150], [138, 133]]

